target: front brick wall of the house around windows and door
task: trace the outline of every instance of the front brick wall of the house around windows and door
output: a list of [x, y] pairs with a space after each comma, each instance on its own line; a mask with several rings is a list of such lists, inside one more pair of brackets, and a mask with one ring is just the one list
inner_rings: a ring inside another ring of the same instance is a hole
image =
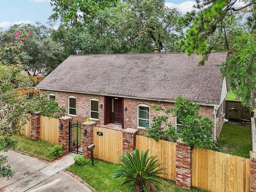
[[[104, 97], [101, 95], [90, 95], [82, 93], [68, 93], [68, 92], [54, 92], [55, 99], [59, 102], [60, 106], [65, 107], [68, 110], [68, 97], [76, 97], [76, 113], [77, 116], [74, 117], [79, 121], [85, 121], [89, 117], [90, 110], [90, 99], [98, 99], [99, 105], [102, 104], [103, 107], [99, 108], [99, 124], [104, 123]], [[124, 98], [124, 108], [127, 107], [127, 111], [124, 111], [124, 129], [127, 128], [137, 128], [137, 113], [138, 105], [145, 104], [150, 107], [150, 125], [152, 123], [151, 119], [156, 115], [163, 115], [163, 111], [154, 110], [151, 105], [155, 104], [164, 108], [172, 108], [173, 103], [170, 102], [158, 102], [158, 101], [148, 101], [140, 99], [129, 99]], [[202, 106], [199, 112], [209, 117], [214, 121], [213, 107], [211, 106]], [[175, 118], [171, 117], [170, 121], [175, 125]], [[140, 134], [143, 133], [143, 129], [139, 130]]]

